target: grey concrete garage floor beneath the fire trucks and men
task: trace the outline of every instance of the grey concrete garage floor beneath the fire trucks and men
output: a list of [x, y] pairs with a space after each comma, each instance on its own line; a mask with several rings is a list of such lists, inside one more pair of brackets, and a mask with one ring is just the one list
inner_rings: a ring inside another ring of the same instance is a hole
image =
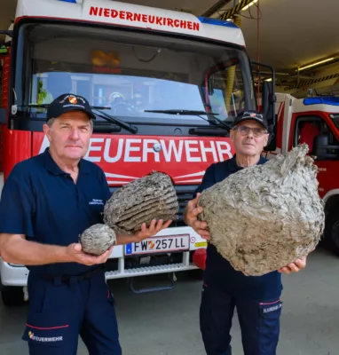
[[[319, 248], [303, 272], [284, 275], [278, 355], [339, 354], [338, 274], [339, 259]], [[199, 280], [179, 273], [172, 290], [144, 295], [131, 293], [126, 280], [110, 281], [110, 285], [117, 303], [123, 354], [205, 354], [198, 324]], [[6, 309], [0, 304], [1, 355], [28, 354], [26, 343], [20, 340], [26, 312], [26, 307]], [[241, 355], [236, 317], [232, 335], [233, 355]], [[80, 343], [78, 354], [86, 353]]]

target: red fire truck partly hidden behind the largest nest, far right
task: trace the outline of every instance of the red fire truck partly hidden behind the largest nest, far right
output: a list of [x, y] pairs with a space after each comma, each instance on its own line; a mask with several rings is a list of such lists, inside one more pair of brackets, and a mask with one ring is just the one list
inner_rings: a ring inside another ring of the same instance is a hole
[[308, 97], [296, 99], [276, 93], [278, 122], [272, 143], [276, 150], [268, 158], [286, 154], [294, 146], [306, 143], [319, 168], [319, 196], [325, 204], [326, 223], [323, 240], [339, 255], [339, 98]]

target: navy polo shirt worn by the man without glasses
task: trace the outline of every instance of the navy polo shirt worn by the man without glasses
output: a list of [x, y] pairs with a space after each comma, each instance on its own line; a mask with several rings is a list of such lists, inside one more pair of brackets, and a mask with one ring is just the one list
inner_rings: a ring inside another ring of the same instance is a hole
[[[24, 234], [29, 241], [67, 246], [83, 231], [103, 223], [110, 197], [98, 165], [81, 160], [75, 184], [70, 174], [43, 154], [19, 162], [6, 179], [0, 201], [0, 233]], [[95, 266], [77, 263], [28, 266], [31, 272], [77, 275]]]

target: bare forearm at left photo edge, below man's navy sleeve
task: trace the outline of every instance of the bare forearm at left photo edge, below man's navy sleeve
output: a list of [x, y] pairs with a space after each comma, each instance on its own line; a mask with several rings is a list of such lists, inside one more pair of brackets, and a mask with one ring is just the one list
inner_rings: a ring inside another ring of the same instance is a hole
[[20, 236], [6, 238], [5, 235], [1, 235], [0, 238], [3, 239], [0, 255], [7, 263], [42, 265], [70, 261], [67, 260], [66, 247], [39, 244], [35, 241], [27, 241]]

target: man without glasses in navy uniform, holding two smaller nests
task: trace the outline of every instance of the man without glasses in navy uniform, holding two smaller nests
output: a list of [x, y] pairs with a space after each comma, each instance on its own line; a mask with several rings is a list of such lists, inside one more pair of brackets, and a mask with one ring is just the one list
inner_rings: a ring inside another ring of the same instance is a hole
[[[91, 355], [122, 354], [114, 299], [103, 270], [112, 248], [90, 256], [78, 243], [85, 229], [103, 223], [110, 197], [103, 170], [83, 160], [92, 119], [86, 99], [59, 96], [43, 125], [50, 147], [18, 163], [4, 184], [0, 250], [5, 262], [29, 269], [23, 339], [31, 355], [76, 354], [79, 335]], [[142, 241], [169, 224], [143, 224], [134, 236], [117, 235], [117, 244]]]

